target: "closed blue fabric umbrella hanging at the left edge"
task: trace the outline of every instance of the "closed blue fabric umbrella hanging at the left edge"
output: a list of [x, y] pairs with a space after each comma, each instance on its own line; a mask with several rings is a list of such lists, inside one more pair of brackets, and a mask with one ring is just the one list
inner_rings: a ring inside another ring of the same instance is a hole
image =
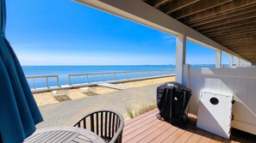
[[5, 0], [0, 4], [0, 142], [22, 142], [43, 119], [21, 64], [5, 38]]

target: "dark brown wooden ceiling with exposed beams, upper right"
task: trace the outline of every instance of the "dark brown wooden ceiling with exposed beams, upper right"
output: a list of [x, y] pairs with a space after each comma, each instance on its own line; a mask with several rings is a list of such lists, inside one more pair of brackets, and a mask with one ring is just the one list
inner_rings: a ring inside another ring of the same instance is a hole
[[142, 0], [256, 63], [256, 0]]

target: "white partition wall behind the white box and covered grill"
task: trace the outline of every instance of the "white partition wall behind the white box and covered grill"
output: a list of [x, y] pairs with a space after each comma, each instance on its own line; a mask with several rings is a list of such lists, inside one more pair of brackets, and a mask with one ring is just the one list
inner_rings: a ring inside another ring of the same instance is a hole
[[190, 112], [197, 114], [202, 89], [234, 94], [232, 126], [256, 134], [256, 69], [190, 69]]

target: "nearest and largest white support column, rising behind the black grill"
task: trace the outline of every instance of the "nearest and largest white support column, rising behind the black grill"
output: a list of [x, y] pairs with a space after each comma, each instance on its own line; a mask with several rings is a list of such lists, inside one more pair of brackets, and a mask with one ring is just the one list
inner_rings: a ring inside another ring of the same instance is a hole
[[176, 37], [176, 81], [183, 82], [183, 70], [186, 57], [186, 36], [178, 35]]

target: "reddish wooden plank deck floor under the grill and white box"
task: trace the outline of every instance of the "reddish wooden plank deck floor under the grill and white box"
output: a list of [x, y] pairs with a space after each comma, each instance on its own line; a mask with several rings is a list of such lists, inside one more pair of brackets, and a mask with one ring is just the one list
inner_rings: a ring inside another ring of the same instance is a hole
[[[189, 115], [190, 120], [194, 123], [190, 123], [186, 129], [177, 128], [171, 124], [163, 121], [159, 121], [156, 118], [158, 110], [151, 110], [143, 115], [137, 116], [128, 122], [125, 122], [123, 128], [122, 142], [165, 142], [165, 143], [218, 143], [218, 142], [256, 142], [256, 136], [253, 134], [237, 133], [237, 130], [232, 131], [230, 140], [223, 139], [222, 137], [210, 134], [202, 129], [196, 128], [194, 125], [197, 121], [197, 116]], [[234, 132], [234, 133], [233, 133]]]

